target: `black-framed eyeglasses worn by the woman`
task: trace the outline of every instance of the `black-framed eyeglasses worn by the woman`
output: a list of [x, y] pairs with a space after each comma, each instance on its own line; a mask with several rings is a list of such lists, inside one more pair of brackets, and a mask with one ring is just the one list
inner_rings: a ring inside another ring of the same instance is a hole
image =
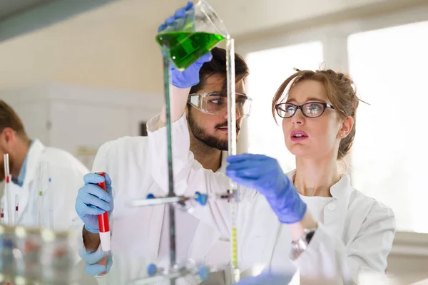
[[326, 108], [335, 109], [332, 105], [323, 102], [308, 102], [303, 105], [295, 105], [292, 103], [279, 103], [275, 105], [277, 114], [281, 118], [291, 118], [298, 109], [302, 111], [302, 114], [307, 118], [320, 117]]

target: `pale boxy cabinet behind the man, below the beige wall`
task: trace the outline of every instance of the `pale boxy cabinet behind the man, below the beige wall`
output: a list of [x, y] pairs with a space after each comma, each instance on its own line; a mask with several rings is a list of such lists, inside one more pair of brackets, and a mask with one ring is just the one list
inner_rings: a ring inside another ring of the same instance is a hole
[[59, 147], [89, 169], [104, 142], [140, 135], [140, 123], [160, 112], [163, 98], [106, 88], [39, 83], [0, 90], [32, 139]]

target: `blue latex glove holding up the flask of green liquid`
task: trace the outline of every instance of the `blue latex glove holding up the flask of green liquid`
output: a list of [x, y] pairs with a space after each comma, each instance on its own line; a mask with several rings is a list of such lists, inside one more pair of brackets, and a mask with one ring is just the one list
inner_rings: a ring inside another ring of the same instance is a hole
[[[175, 11], [174, 16], [170, 16], [168, 19], [166, 19], [164, 24], [161, 24], [158, 28], [158, 33], [161, 31], [164, 31], [165, 29], [168, 31], [168, 27], [174, 26], [174, 25], [180, 25], [184, 21], [180, 21], [180, 19], [183, 19], [185, 17], [185, 12], [193, 9], [193, 3], [188, 2], [188, 4], [184, 8], [180, 8], [177, 11]], [[175, 31], [180, 31], [182, 27], [176, 27], [174, 28]], [[211, 53], [206, 53], [205, 55], [198, 58], [198, 61], [195, 61], [191, 66], [185, 69], [185, 71], [178, 71], [173, 64], [170, 65], [170, 71], [171, 71], [171, 82], [173, 86], [178, 88], [189, 88], [192, 86], [195, 86], [199, 83], [199, 71], [200, 68], [203, 66], [203, 63], [211, 61], [213, 56]]]

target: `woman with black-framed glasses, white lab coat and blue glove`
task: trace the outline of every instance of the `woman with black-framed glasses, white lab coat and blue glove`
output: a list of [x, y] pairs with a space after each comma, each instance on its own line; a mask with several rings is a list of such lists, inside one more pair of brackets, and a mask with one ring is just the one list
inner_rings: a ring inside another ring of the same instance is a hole
[[[279, 221], [276, 231], [265, 226], [269, 234], [276, 232], [271, 266], [290, 256], [301, 277], [322, 276], [330, 284], [357, 283], [360, 274], [385, 271], [394, 213], [355, 190], [337, 168], [355, 137], [358, 103], [354, 83], [343, 73], [297, 71], [272, 100], [296, 169], [285, 175], [265, 155], [228, 157], [228, 177], [257, 190], [255, 204], [264, 197]], [[266, 218], [253, 221], [253, 227], [263, 224]]]

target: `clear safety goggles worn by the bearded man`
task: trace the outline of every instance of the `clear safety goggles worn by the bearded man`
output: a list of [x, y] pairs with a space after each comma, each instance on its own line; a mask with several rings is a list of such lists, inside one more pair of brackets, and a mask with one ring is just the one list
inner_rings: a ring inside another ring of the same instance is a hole
[[[188, 103], [203, 113], [210, 115], [227, 115], [228, 98], [220, 92], [190, 94]], [[250, 115], [251, 98], [247, 95], [236, 93], [236, 113], [241, 118]]]

